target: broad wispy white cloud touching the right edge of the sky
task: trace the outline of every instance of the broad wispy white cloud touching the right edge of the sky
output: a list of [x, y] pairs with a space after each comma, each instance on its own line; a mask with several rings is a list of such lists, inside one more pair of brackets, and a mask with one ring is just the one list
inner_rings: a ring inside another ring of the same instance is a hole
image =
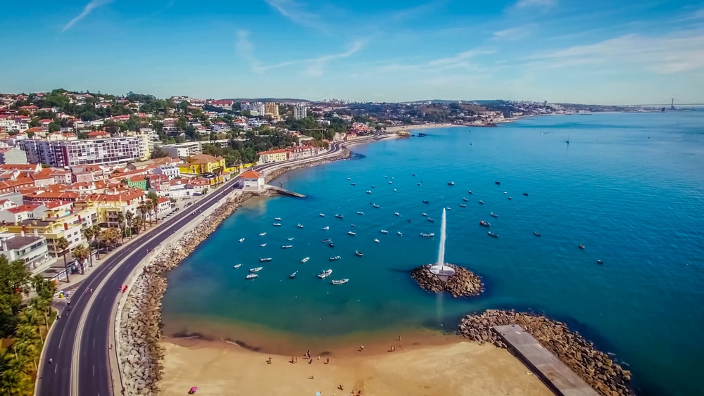
[[704, 68], [704, 30], [686, 30], [665, 37], [627, 34], [530, 58], [535, 62], [532, 65], [543, 68], [601, 65], [646, 69], [662, 75], [689, 72]]

